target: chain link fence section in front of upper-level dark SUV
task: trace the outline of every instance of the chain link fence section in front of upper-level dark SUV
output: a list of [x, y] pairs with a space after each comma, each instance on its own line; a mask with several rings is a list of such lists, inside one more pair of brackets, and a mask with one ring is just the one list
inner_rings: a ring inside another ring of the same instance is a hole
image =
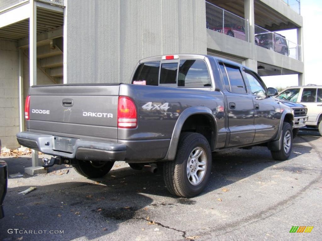
[[257, 25], [255, 25], [255, 44], [256, 42], [262, 48], [301, 60], [301, 46], [287, 40], [285, 36], [279, 33], [270, 32]]

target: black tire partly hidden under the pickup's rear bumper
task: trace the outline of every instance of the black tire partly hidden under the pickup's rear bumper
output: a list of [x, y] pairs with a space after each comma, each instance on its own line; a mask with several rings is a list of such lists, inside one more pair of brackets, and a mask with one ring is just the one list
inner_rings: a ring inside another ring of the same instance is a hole
[[84, 177], [97, 178], [108, 174], [114, 162], [91, 162], [79, 160], [78, 165], [73, 165], [76, 172]]

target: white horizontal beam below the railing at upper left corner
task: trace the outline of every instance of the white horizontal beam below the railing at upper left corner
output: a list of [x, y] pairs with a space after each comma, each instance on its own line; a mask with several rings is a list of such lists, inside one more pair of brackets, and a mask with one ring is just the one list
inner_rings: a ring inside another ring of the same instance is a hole
[[21, 4], [9, 11], [0, 13], [0, 28], [22, 21], [30, 16], [30, 3]]

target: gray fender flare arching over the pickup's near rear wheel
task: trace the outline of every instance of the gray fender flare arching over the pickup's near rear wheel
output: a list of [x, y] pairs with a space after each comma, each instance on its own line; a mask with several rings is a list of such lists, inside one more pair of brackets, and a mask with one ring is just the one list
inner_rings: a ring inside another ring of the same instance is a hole
[[[195, 114], [205, 114], [205, 115], [210, 116], [211, 119], [213, 120], [213, 124], [214, 124], [213, 131], [215, 133], [215, 136], [217, 136], [217, 123], [216, 123], [216, 118], [215, 118], [213, 112], [208, 107], [204, 107], [204, 106], [189, 107], [189, 108], [185, 109], [180, 114], [177, 122], [175, 123], [175, 128], [172, 132], [170, 145], [169, 145], [168, 151], [166, 153], [166, 156], [164, 157], [164, 159], [162, 159], [163, 161], [171, 161], [171, 160], [175, 159], [175, 154], [177, 151], [182, 127], [183, 127], [185, 121], [189, 118], [189, 116], [192, 116]], [[215, 140], [216, 140], [216, 138], [215, 138]], [[211, 145], [211, 149], [213, 150], [214, 147], [215, 147], [215, 141], [214, 141], [213, 145]]]

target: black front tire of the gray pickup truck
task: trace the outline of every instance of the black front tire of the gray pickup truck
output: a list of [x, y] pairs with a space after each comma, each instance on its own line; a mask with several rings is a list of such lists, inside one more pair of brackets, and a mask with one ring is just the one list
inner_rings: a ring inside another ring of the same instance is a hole
[[[290, 136], [290, 145], [289, 145], [289, 150], [286, 151], [286, 145], [285, 145], [285, 136], [287, 135], [291, 135]], [[274, 160], [277, 161], [285, 161], [289, 158], [289, 156], [291, 155], [292, 152], [292, 147], [293, 147], [293, 133], [292, 133], [292, 127], [288, 122], [284, 122], [283, 123], [283, 129], [282, 129], [282, 134], [281, 134], [281, 138], [282, 138], [282, 148], [279, 151], [270, 151], [272, 157]]]

